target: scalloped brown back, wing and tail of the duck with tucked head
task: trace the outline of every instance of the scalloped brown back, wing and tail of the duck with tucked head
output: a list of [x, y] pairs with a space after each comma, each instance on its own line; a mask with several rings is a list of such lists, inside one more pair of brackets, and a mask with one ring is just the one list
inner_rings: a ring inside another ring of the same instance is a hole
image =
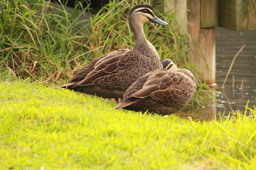
[[[196, 79], [187, 69], [169, 72], [159, 69], [140, 77], [125, 91], [117, 106], [124, 108], [142, 98], [153, 98], [155, 101], [186, 104], [196, 91]], [[146, 102], [146, 101], [145, 101]]]

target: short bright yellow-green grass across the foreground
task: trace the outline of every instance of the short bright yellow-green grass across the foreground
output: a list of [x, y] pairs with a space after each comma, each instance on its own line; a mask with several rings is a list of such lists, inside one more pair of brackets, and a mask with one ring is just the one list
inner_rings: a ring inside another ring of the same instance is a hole
[[0, 86], [1, 169], [256, 167], [253, 116], [201, 123], [114, 110], [114, 101], [28, 81]]

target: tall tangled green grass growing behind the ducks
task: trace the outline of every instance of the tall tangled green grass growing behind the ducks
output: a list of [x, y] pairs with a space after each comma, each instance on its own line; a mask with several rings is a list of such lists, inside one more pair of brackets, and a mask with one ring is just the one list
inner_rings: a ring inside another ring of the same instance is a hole
[[[1, 72], [16, 77], [56, 82], [67, 80], [92, 58], [134, 46], [132, 30], [127, 23], [131, 6], [151, 1], [110, 1], [90, 21], [79, 20], [85, 11], [80, 3], [73, 13], [65, 6], [51, 6], [49, 1], [1, 1]], [[55, 11], [55, 12], [53, 12]], [[162, 59], [172, 57], [186, 66], [188, 35], [173, 28], [173, 15], [156, 15], [169, 24], [145, 25], [146, 37], [159, 51]], [[78, 14], [80, 13], [80, 14]]]

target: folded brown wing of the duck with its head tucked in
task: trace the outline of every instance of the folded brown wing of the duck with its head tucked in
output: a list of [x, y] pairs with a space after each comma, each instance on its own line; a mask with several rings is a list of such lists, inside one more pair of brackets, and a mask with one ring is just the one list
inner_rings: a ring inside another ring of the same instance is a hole
[[[159, 79], [154, 78], [160, 74]], [[183, 72], [157, 72], [151, 78], [142, 89], [132, 94], [134, 98], [150, 97], [155, 101], [165, 102], [187, 101], [196, 91], [196, 82]]]

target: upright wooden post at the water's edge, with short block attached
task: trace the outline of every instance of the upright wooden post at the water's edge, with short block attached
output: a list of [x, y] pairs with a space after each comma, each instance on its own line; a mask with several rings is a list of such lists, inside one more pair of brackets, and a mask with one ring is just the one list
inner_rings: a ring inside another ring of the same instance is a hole
[[[215, 84], [215, 26], [218, 24], [217, 0], [187, 0], [188, 33], [194, 41], [189, 45], [189, 61], [196, 63], [201, 78], [209, 86]], [[198, 50], [199, 49], [201, 50]]]

